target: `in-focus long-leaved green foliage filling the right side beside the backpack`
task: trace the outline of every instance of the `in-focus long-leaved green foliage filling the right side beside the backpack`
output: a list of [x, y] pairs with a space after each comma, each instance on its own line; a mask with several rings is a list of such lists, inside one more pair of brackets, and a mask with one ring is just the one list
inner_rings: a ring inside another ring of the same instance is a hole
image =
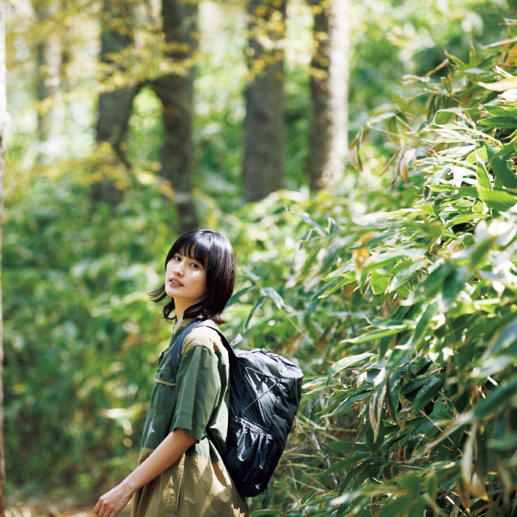
[[516, 50], [408, 77], [425, 121], [407, 99], [369, 124], [391, 139], [392, 191], [297, 203], [285, 287], [278, 255], [250, 274], [267, 304], [252, 339], [307, 374], [263, 515], [514, 515]]

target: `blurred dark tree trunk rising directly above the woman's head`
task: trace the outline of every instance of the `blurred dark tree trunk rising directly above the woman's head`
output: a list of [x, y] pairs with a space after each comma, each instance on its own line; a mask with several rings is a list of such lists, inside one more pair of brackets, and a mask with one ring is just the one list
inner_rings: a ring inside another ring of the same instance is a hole
[[[194, 67], [187, 63], [197, 48], [197, 5], [182, 0], [163, 0], [162, 18], [167, 57], [183, 63], [185, 74], [167, 74], [153, 83], [163, 105], [161, 175], [172, 183], [182, 231], [198, 226], [192, 196], [192, 101]], [[179, 43], [179, 45], [172, 45]]]

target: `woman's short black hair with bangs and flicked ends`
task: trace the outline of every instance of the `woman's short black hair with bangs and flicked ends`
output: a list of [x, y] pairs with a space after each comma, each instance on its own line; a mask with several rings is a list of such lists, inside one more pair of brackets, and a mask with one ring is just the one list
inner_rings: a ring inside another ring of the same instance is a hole
[[[230, 241], [211, 228], [196, 228], [176, 239], [165, 259], [165, 270], [172, 257], [179, 253], [194, 259], [205, 268], [207, 297], [185, 311], [187, 317], [211, 319], [215, 323], [225, 323], [221, 313], [232, 298], [235, 284], [234, 252]], [[167, 298], [165, 283], [149, 293], [152, 301], [158, 303]], [[163, 307], [163, 317], [167, 320], [174, 310], [174, 298]]]

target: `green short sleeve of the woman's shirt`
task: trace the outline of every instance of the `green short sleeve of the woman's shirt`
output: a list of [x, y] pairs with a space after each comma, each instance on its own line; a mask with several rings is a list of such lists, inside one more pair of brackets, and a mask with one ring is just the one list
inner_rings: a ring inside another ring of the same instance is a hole
[[182, 356], [176, 377], [176, 409], [170, 431], [181, 428], [201, 440], [221, 394], [218, 358], [208, 347], [193, 346]]

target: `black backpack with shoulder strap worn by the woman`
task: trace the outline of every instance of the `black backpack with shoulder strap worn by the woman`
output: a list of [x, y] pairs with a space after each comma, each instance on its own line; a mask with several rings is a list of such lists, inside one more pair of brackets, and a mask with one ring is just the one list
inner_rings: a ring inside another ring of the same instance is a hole
[[206, 434], [223, 458], [239, 494], [256, 496], [267, 488], [280, 460], [287, 434], [300, 405], [303, 373], [287, 359], [266, 349], [233, 349], [212, 320], [192, 321], [176, 338], [170, 366], [176, 376], [185, 336], [199, 326], [210, 327], [221, 336], [230, 356], [230, 408], [226, 449], [216, 444], [210, 429]]

